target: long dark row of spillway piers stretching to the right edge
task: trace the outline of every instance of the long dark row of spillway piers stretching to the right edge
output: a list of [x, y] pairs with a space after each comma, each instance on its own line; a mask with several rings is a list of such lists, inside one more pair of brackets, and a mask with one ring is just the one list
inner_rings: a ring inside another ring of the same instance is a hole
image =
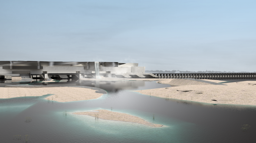
[[152, 73], [164, 79], [256, 79], [256, 73]]

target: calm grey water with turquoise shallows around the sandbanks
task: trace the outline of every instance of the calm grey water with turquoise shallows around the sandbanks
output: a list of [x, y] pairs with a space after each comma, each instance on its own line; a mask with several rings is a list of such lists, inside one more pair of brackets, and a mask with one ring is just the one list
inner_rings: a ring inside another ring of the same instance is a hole
[[[13, 140], [13, 135], [30, 135], [30, 143], [256, 142], [256, 106], [204, 104], [131, 92], [169, 87], [151, 81], [78, 81], [48, 85], [92, 86], [105, 89], [108, 94], [98, 99], [66, 103], [44, 99], [49, 95], [0, 99], [0, 143], [24, 142], [23, 138]], [[72, 114], [98, 109], [131, 114], [164, 127]], [[32, 121], [25, 122], [26, 117]], [[242, 131], [243, 124], [251, 127]]]

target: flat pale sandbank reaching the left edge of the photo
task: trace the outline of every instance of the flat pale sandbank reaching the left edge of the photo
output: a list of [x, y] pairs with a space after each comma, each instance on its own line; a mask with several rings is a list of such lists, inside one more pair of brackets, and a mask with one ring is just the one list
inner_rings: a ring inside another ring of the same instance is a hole
[[0, 87], [0, 99], [9, 99], [23, 96], [42, 96], [54, 94], [45, 99], [57, 102], [72, 102], [80, 100], [97, 99], [102, 93], [95, 93], [96, 90], [79, 87], [42, 87], [42, 88], [13, 88]]

